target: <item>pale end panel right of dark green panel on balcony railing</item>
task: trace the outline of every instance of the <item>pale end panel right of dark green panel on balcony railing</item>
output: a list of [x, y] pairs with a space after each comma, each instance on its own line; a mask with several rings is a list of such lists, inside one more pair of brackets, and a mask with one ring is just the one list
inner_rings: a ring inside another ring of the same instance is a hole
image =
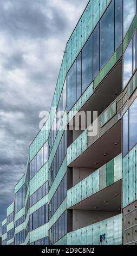
[[114, 159], [114, 182], [122, 179], [122, 154]]

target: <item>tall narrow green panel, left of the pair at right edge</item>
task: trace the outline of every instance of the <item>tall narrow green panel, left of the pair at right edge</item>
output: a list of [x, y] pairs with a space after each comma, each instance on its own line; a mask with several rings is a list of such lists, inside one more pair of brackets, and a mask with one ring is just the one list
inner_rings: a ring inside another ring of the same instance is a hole
[[129, 178], [128, 178], [128, 155], [123, 158], [123, 208], [128, 205], [128, 186], [129, 186]]

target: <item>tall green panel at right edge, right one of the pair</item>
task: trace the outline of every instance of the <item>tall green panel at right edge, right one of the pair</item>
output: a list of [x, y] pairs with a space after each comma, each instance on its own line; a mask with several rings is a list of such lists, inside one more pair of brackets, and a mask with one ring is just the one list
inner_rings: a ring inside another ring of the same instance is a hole
[[129, 152], [129, 203], [135, 200], [135, 147]]

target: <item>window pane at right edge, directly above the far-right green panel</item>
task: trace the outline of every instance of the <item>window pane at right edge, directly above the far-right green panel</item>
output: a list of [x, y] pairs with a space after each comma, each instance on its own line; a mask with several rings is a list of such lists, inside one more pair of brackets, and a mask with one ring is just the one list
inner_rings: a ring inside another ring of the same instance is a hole
[[137, 99], [129, 108], [129, 149], [131, 149], [137, 142], [136, 133], [137, 123]]

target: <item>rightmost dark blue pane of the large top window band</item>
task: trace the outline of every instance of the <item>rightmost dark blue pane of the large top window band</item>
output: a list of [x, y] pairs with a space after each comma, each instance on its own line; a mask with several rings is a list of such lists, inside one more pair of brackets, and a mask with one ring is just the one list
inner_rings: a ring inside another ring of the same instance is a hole
[[122, 0], [115, 0], [115, 50], [122, 42]]

